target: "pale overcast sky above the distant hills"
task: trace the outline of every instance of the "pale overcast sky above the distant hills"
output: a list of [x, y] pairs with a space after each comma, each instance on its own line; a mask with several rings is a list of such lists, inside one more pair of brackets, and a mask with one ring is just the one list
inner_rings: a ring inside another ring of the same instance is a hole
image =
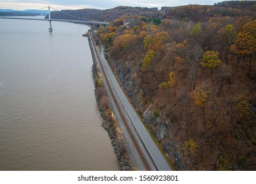
[[112, 9], [120, 5], [131, 7], [176, 7], [180, 5], [213, 5], [218, 0], [0, 0], [0, 9], [40, 9], [50, 5], [55, 9]]

